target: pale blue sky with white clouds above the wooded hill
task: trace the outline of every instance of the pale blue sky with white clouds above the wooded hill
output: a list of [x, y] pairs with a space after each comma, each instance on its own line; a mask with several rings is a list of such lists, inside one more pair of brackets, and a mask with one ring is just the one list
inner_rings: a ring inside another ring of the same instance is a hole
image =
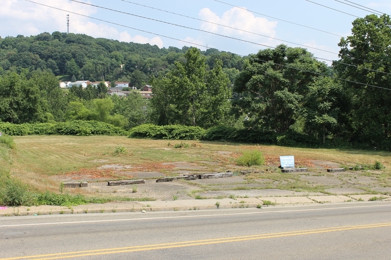
[[216, 48], [239, 55], [257, 53], [260, 49], [284, 43], [291, 47], [306, 48], [319, 60], [331, 64], [330, 60], [338, 59], [341, 37], [351, 34], [352, 21], [371, 14], [370, 11], [349, 5], [354, 3], [391, 14], [389, 0], [77, 2], [1, 0], [0, 36], [5, 38], [35, 36], [42, 32], [66, 32], [66, 15], [69, 14], [69, 32], [95, 38], [149, 43], [160, 48]]

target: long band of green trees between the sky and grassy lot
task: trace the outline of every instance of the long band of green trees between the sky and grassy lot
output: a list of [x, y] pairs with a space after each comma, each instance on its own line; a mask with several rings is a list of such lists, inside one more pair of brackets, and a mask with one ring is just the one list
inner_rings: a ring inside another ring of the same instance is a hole
[[[65, 45], [73, 39], [70, 48], [81, 48], [79, 45], [88, 42], [98, 45], [117, 61], [117, 69], [118, 64], [125, 64], [121, 73], [131, 77], [135, 71], [150, 72], [145, 82], [152, 85], [153, 97], [148, 101], [137, 92], [125, 99], [107, 97], [92, 86], [74, 88], [64, 95], [53, 71], [10, 66], [3, 68], [0, 77], [0, 120], [97, 120], [125, 129], [144, 123], [181, 124], [218, 127], [221, 133], [228, 128], [244, 135], [246, 131], [273, 133], [302, 143], [316, 140], [320, 146], [391, 150], [391, 21], [387, 15], [369, 15], [352, 24], [352, 35], [341, 39], [339, 60], [332, 67], [306, 49], [286, 45], [241, 58], [214, 49], [159, 49], [57, 32], [31, 37], [45, 36], [47, 42]], [[3, 39], [1, 52], [15, 39], [18, 37]], [[118, 46], [128, 47], [126, 60]], [[156, 62], [148, 67], [138, 63], [147, 59], [133, 59], [136, 55], [149, 55], [166, 66]], [[85, 72], [88, 59], [80, 67], [76, 58], [72, 56], [68, 65], [74, 62], [76, 70]], [[98, 78], [106, 79], [107, 75]]]

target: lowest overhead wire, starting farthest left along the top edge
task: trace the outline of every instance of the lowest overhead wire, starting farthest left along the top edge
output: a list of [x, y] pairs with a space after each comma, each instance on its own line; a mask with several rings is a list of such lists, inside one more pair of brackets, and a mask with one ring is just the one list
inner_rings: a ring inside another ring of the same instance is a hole
[[[31, 1], [31, 0], [24, 0], [24, 1], [30, 2], [30, 3], [33, 3], [33, 4], [37, 4], [37, 5], [40, 5], [40, 6], [45, 6], [45, 7], [48, 7], [48, 8], [52, 8], [52, 9], [55, 9], [55, 10], [60, 10], [60, 11], [68, 12], [68, 13], [71, 13], [71, 14], [79, 15], [79, 16], [82, 16], [82, 17], [87, 17], [87, 18], [94, 19], [94, 20], [97, 20], [97, 21], [102, 21], [102, 22], [106, 22], [106, 23], [118, 25], [118, 26], [121, 26], [121, 27], [129, 28], [129, 29], [133, 29], [133, 30], [137, 30], [137, 31], [147, 32], [147, 34], [151, 34], [151, 35], [155, 35], [155, 36], [160, 36], [160, 37], [163, 37], [163, 38], [172, 39], [172, 40], [176, 40], [176, 41], [180, 41], [180, 42], [184, 42], [184, 43], [189, 43], [189, 44], [191, 44], [191, 45], [197, 45], [197, 46], [200, 46], [200, 47], [208, 48], [208, 46], [205, 46], [205, 45], [202, 45], [202, 44], [192, 43], [192, 42], [188, 42], [188, 41], [176, 39], [176, 38], [173, 38], [173, 37], [170, 37], [170, 36], [165, 36], [165, 35], [161, 35], [161, 34], [156, 34], [155, 32], [151, 32], [151, 31], [147, 31], [147, 30], [142, 30], [142, 29], [137, 29], [137, 28], [130, 27], [130, 26], [127, 26], [127, 25], [123, 25], [123, 24], [119, 24], [119, 23], [115, 23], [115, 22], [110, 22], [110, 21], [107, 21], [107, 20], [103, 20], [103, 19], [91, 17], [91, 16], [88, 16], [88, 15], [79, 14], [79, 13], [72, 12], [72, 11], [67, 11], [67, 10], [65, 10], [65, 9], [61, 9], [61, 8], [52, 7], [52, 6], [44, 5], [44, 4], [41, 4], [41, 3], [33, 2], [33, 1]], [[217, 49], [217, 50], [218, 50], [218, 51], [224, 51], [224, 50], [219, 50], [219, 49]], [[245, 55], [239, 55], [239, 56], [244, 57]], [[355, 84], [364, 85], [364, 86], [370, 86], [370, 87], [376, 87], [376, 88], [380, 88], [380, 89], [391, 90], [390, 88], [379, 87], [379, 86], [376, 86], [376, 85], [361, 83], [361, 82], [358, 82], [358, 81], [353, 81], [353, 80], [348, 80], [348, 79], [342, 79], [342, 78], [332, 77], [332, 76], [327, 75], [327, 74], [322, 74], [322, 73], [316, 73], [316, 72], [312, 72], [312, 71], [307, 71], [307, 70], [295, 68], [295, 67], [292, 67], [292, 66], [287, 66], [287, 65], [278, 64], [278, 63], [275, 63], [275, 62], [263, 60], [263, 59], [260, 59], [260, 58], [255, 58], [255, 59], [256, 59], [256, 60], [259, 60], [259, 61], [263, 61], [263, 62], [269, 62], [269, 63], [275, 64], [275, 65], [278, 65], [278, 66], [283, 66], [283, 67], [287, 67], [287, 68], [291, 68], [291, 69], [295, 69], [295, 70], [303, 71], [303, 72], [309, 72], [309, 73], [312, 73], [312, 74], [316, 74], [316, 75], [320, 75], [320, 76], [325, 76], [325, 77], [329, 77], [329, 78], [332, 78], [332, 79], [337, 79], [337, 80], [341, 80], [341, 81], [345, 81], [345, 82], [350, 82], [350, 83], [355, 83]]]

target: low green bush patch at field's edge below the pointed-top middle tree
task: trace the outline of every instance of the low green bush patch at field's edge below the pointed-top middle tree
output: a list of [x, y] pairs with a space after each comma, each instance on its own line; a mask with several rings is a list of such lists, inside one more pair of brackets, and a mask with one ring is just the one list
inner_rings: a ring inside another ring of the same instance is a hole
[[199, 126], [143, 124], [130, 129], [131, 138], [151, 139], [202, 139], [206, 131]]

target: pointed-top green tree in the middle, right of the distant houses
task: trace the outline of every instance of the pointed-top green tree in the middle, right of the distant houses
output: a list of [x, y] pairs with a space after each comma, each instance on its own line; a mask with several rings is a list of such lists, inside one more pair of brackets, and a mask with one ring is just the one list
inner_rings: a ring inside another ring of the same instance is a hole
[[186, 63], [176, 61], [174, 69], [150, 81], [154, 120], [158, 124], [217, 125], [228, 114], [228, 76], [219, 61], [208, 72], [205, 56], [197, 48], [189, 48], [184, 56]]

